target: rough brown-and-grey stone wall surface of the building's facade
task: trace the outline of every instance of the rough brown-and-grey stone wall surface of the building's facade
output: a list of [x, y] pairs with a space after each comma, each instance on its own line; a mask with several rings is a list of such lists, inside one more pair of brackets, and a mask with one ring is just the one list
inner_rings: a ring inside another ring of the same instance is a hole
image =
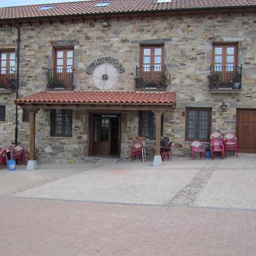
[[[99, 57], [110, 56], [125, 68], [118, 73], [111, 90], [134, 90], [135, 67], [139, 65], [141, 44], [164, 44], [164, 63], [171, 75], [168, 90], [176, 91], [175, 112], [164, 113], [164, 136], [174, 142], [174, 155], [191, 154], [190, 143], [184, 141], [185, 107], [210, 104], [212, 129], [235, 131], [236, 109], [256, 108], [256, 23], [254, 14], [170, 16], [162, 18], [110, 19], [110, 27], [100, 22], [57, 22], [23, 24], [20, 27], [19, 97], [46, 90], [46, 68], [52, 68], [53, 49], [74, 47], [76, 90], [95, 90], [93, 76], [86, 68]], [[16, 48], [16, 28], [0, 28], [0, 48]], [[207, 75], [212, 61], [213, 42], [238, 42], [238, 64], [243, 65], [242, 91], [213, 94], [209, 92]], [[0, 144], [14, 143], [15, 93], [0, 94], [6, 105], [6, 121], [0, 123]], [[228, 105], [222, 112], [222, 101]], [[59, 158], [82, 158], [88, 154], [88, 112], [73, 112], [73, 137], [52, 138], [49, 135], [49, 110], [36, 114], [36, 147], [43, 161]], [[131, 143], [138, 136], [138, 113], [122, 113], [121, 156], [129, 157]], [[22, 122], [19, 110], [19, 143], [28, 144], [28, 123]]]

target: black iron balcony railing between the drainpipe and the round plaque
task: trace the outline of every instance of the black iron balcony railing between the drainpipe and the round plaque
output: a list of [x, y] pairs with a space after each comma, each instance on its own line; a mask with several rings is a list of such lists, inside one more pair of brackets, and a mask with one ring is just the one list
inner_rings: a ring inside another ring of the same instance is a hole
[[73, 68], [47, 68], [47, 89], [73, 90], [75, 88], [74, 71]]

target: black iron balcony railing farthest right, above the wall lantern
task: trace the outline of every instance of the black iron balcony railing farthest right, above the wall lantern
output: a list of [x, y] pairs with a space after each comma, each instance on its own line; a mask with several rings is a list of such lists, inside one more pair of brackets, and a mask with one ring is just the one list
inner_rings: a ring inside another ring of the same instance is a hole
[[210, 89], [241, 89], [242, 65], [231, 66], [210, 66], [210, 75], [207, 76]]

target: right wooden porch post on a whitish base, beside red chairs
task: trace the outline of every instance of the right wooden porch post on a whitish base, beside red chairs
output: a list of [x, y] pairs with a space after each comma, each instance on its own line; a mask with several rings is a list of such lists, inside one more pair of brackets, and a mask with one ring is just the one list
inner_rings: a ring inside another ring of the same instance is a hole
[[162, 158], [160, 156], [160, 143], [161, 143], [161, 115], [162, 110], [151, 110], [155, 114], [156, 129], [155, 129], [155, 157], [153, 165], [162, 164]]

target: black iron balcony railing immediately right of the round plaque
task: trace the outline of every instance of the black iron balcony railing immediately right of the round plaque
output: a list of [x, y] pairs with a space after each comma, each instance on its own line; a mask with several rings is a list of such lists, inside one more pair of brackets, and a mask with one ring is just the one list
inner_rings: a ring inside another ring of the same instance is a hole
[[166, 67], [137, 67], [134, 79], [136, 89], [165, 89], [168, 86]]

